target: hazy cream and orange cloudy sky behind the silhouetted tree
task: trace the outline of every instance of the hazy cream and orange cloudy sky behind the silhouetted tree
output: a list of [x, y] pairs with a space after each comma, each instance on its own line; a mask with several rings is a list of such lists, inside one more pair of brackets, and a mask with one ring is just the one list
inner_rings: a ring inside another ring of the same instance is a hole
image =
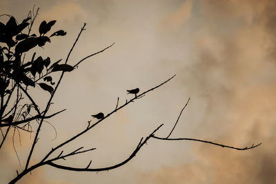
[[[0, 14], [18, 21], [39, 7], [33, 32], [43, 20], [57, 20], [52, 29], [66, 37], [52, 39], [37, 52], [52, 61], [65, 59], [83, 23], [86, 30], [68, 61], [74, 65], [88, 54], [115, 42], [66, 74], [51, 112], [66, 112], [46, 123], [32, 162], [51, 147], [80, 132], [91, 114], [107, 114], [130, 99], [126, 90], [141, 91], [176, 74], [166, 85], [110, 116], [88, 134], [70, 143], [97, 150], [61, 162], [91, 167], [114, 165], [128, 158], [141, 136], [161, 123], [166, 136], [190, 97], [173, 138], [195, 138], [237, 147], [238, 151], [191, 141], [150, 140], [132, 161], [116, 170], [70, 172], [46, 166], [19, 183], [275, 183], [276, 129], [276, 3], [246, 0], [1, 0]], [[2, 22], [8, 18], [0, 17]], [[35, 91], [37, 90], [37, 91]], [[47, 92], [34, 89], [41, 105]], [[95, 120], [93, 120], [95, 121]], [[36, 124], [33, 125], [36, 127]], [[25, 164], [33, 134], [16, 143]], [[22, 170], [12, 147], [12, 133], [0, 150], [0, 183]], [[14, 139], [19, 139], [15, 133]]]

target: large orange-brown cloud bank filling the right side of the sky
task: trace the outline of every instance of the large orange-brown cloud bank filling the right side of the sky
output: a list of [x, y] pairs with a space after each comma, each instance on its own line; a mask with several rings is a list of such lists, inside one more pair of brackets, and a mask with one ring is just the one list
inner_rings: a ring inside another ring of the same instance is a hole
[[[201, 1], [196, 7], [191, 63], [179, 70], [192, 99], [206, 105], [195, 137], [238, 147], [263, 144], [236, 151], [193, 143], [193, 163], [164, 165], [146, 176], [151, 183], [275, 183], [275, 3]], [[169, 37], [185, 37], [181, 29]]]

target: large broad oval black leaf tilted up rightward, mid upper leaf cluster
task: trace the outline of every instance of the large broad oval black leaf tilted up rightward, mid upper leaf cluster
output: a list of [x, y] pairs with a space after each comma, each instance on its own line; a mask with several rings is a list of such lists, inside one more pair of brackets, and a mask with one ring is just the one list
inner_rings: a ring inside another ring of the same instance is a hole
[[15, 53], [20, 54], [23, 52], [28, 52], [30, 49], [34, 48], [39, 44], [39, 38], [37, 37], [28, 37], [23, 41], [20, 41], [15, 47]]

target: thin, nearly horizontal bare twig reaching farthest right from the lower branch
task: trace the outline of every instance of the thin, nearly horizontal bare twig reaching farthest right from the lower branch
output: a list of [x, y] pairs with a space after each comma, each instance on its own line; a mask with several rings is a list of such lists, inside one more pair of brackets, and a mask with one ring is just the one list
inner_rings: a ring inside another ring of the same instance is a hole
[[233, 147], [233, 146], [229, 146], [229, 145], [222, 145], [222, 144], [219, 144], [219, 143], [213, 143], [211, 141], [204, 141], [204, 140], [201, 140], [201, 139], [192, 139], [192, 138], [175, 138], [175, 139], [172, 139], [172, 138], [163, 138], [163, 137], [159, 137], [159, 136], [152, 136], [152, 137], [155, 138], [155, 139], [163, 140], [163, 141], [197, 141], [197, 142], [208, 143], [208, 144], [217, 145], [217, 146], [221, 146], [221, 147], [228, 147], [228, 148], [231, 148], [231, 149], [234, 149], [234, 150], [250, 150], [250, 149], [252, 149], [254, 147], [257, 147], [257, 146], [262, 144], [262, 143], [259, 143], [257, 145], [253, 144], [250, 147], [240, 148], [240, 147]]

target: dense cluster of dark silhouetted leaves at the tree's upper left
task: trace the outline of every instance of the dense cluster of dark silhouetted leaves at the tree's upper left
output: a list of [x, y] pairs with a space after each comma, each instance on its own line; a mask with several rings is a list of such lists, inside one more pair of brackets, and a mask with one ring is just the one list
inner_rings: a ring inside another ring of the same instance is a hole
[[[61, 59], [55, 63], [50, 57], [36, 57], [36, 52], [32, 54], [30, 61], [24, 61], [25, 54], [32, 52], [34, 48], [42, 48], [46, 43], [50, 43], [52, 37], [65, 36], [64, 30], [57, 30], [49, 34], [56, 21], [42, 21], [39, 25], [39, 36], [30, 34], [30, 29], [34, 21], [31, 17], [23, 19], [17, 23], [14, 17], [6, 23], [0, 22], [0, 94], [6, 96], [10, 94], [14, 84], [35, 87], [39, 85], [42, 90], [52, 94], [55, 85], [52, 72], [70, 72], [74, 67], [68, 64], [59, 64]], [[28, 31], [26, 31], [28, 30]], [[25, 32], [25, 33], [24, 33]], [[28, 32], [28, 33], [26, 33]], [[41, 79], [43, 82], [41, 83]]]

